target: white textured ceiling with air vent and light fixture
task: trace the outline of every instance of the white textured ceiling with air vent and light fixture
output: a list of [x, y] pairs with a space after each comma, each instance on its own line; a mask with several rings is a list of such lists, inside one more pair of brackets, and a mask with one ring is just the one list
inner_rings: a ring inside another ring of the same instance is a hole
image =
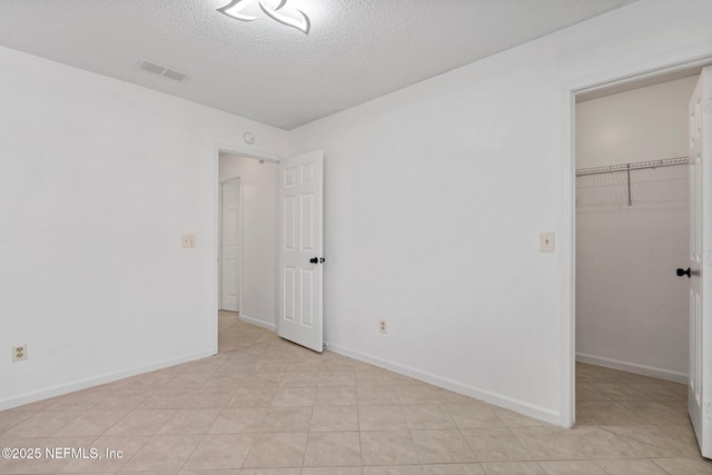
[[1, 0], [0, 46], [291, 129], [633, 1], [287, 0], [305, 36], [257, 2], [246, 23], [228, 0]]

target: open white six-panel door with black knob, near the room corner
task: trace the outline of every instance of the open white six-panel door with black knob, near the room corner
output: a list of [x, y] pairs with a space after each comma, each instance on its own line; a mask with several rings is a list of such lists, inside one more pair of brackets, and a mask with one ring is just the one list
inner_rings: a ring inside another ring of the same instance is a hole
[[324, 348], [322, 150], [279, 162], [279, 336]]

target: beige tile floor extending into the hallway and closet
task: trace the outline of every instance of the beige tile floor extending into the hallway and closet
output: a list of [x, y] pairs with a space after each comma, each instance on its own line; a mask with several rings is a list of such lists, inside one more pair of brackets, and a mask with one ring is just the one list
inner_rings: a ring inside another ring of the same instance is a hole
[[[220, 314], [220, 353], [0, 413], [0, 446], [101, 459], [0, 458], [2, 474], [469, 475], [712, 473], [685, 388], [577, 365], [562, 429]], [[122, 451], [107, 458], [106, 449]]]

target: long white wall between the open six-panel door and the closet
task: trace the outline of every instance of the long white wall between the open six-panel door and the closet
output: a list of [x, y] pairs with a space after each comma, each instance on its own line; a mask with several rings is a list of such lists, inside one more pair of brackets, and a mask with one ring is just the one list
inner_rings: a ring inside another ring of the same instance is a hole
[[291, 155], [325, 151], [329, 347], [567, 424], [565, 259], [538, 253], [568, 219], [564, 86], [710, 52], [712, 2], [685, 3], [643, 0], [293, 130]]

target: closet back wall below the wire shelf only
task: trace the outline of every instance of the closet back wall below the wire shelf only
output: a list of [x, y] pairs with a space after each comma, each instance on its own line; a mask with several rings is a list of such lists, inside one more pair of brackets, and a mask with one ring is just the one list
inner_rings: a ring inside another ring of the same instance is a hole
[[688, 167], [576, 181], [577, 359], [686, 382]]

